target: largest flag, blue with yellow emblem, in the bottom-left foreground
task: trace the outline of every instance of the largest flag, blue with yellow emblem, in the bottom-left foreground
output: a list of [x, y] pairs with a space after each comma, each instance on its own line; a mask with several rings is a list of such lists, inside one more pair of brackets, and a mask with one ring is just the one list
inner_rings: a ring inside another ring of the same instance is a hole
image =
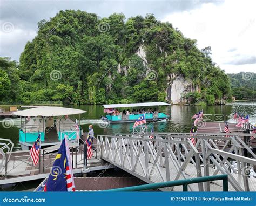
[[75, 191], [75, 185], [73, 185], [73, 177], [71, 175], [72, 163], [69, 161], [67, 155], [66, 141], [66, 138], [62, 140], [44, 191]]

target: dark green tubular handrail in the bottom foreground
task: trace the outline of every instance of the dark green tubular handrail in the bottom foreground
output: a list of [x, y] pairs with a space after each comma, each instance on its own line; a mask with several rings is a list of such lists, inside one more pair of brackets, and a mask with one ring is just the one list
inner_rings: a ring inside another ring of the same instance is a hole
[[183, 191], [188, 191], [187, 190], [188, 184], [215, 181], [215, 180], [223, 180], [223, 191], [228, 191], [227, 175], [214, 175], [214, 176], [197, 177], [197, 178], [191, 178], [191, 179], [185, 179], [185, 180], [143, 184], [142, 186], [132, 186], [132, 187], [117, 188], [117, 189], [110, 189], [110, 190], [104, 190], [104, 191], [145, 191], [145, 190], [167, 188], [167, 187], [174, 187], [174, 186], [183, 186]]

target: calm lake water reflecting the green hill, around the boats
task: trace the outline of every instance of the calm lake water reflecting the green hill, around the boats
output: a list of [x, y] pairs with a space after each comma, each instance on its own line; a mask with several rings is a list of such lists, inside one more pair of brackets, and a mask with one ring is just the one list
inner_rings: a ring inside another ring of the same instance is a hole
[[[0, 105], [1, 107], [1, 105]], [[113, 135], [116, 133], [131, 133], [133, 123], [117, 123], [110, 124], [106, 128], [99, 125], [99, 118], [104, 115], [103, 107], [100, 105], [80, 105], [80, 106], [65, 106], [77, 109], [83, 109], [86, 113], [80, 115], [80, 125], [84, 132], [88, 131], [88, 126], [93, 125], [95, 136], [97, 134]], [[235, 111], [248, 113], [250, 122], [256, 123], [256, 102], [235, 102], [227, 105], [212, 105], [212, 106], [185, 106], [171, 105], [158, 107], [159, 111], [171, 115], [171, 119], [165, 122], [155, 122], [154, 132], [189, 132], [193, 120], [191, 117], [200, 109], [204, 109], [204, 114], [233, 114]], [[23, 108], [18, 108], [23, 109]], [[121, 108], [120, 108], [121, 110]], [[71, 116], [78, 118], [78, 115]], [[230, 120], [233, 122], [233, 120]], [[14, 126], [7, 129], [3, 127], [3, 119], [0, 119], [0, 138], [10, 139], [15, 143], [15, 150], [19, 150], [18, 132], [20, 127], [19, 119], [14, 119]], [[151, 128], [149, 128], [150, 131]]]

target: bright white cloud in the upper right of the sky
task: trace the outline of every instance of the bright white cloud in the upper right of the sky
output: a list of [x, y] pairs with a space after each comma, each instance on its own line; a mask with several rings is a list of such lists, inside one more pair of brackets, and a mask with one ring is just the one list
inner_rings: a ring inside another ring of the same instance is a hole
[[[198, 9], [167, 15], [163, 21], [197, 39], [199, 49], [212, 47], [212, 59], [227, 73], [254, 71], [256, 64], [235, 65], [256, 54], [256, 1], [205, 3]], [[228, 63], [228, 64], [227, 64]]]

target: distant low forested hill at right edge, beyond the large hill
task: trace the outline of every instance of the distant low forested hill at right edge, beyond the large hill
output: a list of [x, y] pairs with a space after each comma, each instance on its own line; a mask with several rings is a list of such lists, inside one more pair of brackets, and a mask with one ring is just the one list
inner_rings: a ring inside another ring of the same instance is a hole
[[256, 99], [256, 73], [240, 72], [228, 74], [231, 80], [231, 92], [237, 100]]

